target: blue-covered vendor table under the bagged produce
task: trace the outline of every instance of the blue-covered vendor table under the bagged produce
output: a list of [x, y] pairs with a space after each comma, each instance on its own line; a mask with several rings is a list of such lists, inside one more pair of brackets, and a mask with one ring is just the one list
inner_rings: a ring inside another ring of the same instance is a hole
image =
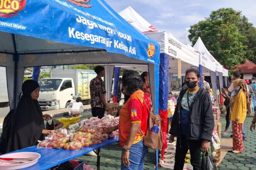
[[[91, 145], [90, 147], [82, 147], [79, 150], [64, 150], [64, 149], [47, 149], [47, 148], [37, 148], [36, 146], [27, 147], [24, 149], [20, 149], [14, 152], [36, 152], [41, 155], [39, 158], [39, 161], [28, 168], [24, 168], [22, 170], [47, 170], [51, 167], [54, 167], [56, 165], [59, 165], [63, 162], [66, 162], [68, 160], [74, 159], [76, 157], [79, 157], [81, 155], [84, 155], [88, 152], [96, 151], [97, 154], [97, 170], [99, 170], [100, 165], [100, 149], [104, 146], [108, 146], [110, 144], [113, 144], [114, 142], [118, 141], [118, 137], [116, 139], [108, 139], [102, 142], [101, 144], [97, 145]], [[121, 157], [121, 155], [120, 155]]]

